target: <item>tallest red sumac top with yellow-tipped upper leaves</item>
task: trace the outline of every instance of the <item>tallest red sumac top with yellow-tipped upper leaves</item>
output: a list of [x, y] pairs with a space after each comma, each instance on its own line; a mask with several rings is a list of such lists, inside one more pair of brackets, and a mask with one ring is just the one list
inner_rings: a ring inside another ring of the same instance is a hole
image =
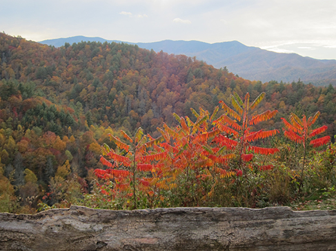
[[[263, 113], [251, 115], [257, 108], [266, 94], [261, 93], [252, 103], [250, 103], [250, 94], [246, 94], [244, 101], [237, 93], [230, 96], [233, 109], [228, 107], [225, 102], [220, 101], [221, 108], [226, 112], [213, 122], [214, 126], [221, 131], [221, 134], [215, 137], [215, 142], [219, 146], [226, 146], [233, 149], [240, 169], [243, 162], [250, 162], [253, 159], [253, 153], [269, 155], [277, 153], [276, 148], [265, 148], [253, 146], [253, 142], [268, 138], [279, 133], [277, 129], [253, 131], [253, 125], [270, 120], [277, 114], [277, 110], [264, 111]], [[225, 135], [223, 135], [225, 134]], [[263, 169], [262, 167], [260, 167]]]

